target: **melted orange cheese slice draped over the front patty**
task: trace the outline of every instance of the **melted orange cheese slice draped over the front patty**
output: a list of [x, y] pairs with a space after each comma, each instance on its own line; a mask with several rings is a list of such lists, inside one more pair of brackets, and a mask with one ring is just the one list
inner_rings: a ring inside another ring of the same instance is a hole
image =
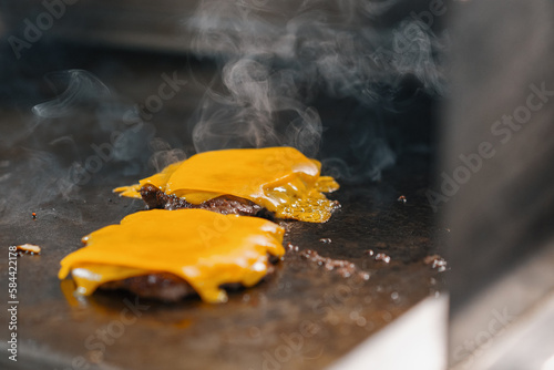
[[91, 295], [106, 281], [171, 273], [203, 300], [223, 302], [220, 285], [250, 287], [266, 275], [267, 254], [285, 254], [284, 233], [263, 218], [204, 209], [138, 212], [83, 237], [85, 247], [62, 259], [59, 278], [71, 271], [78, 292]]

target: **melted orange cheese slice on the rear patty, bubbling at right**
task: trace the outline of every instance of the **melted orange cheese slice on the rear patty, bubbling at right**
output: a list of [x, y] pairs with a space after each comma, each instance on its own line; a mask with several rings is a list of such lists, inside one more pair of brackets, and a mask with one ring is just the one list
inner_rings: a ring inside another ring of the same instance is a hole
[[294, 147], [225, 150], [193, 155], [136, 185], [114, 192], [140, 198], [138, 189], [152, 185], [192, 204], [234, 195], [280, 218], [325, 223], [336, 203], [327, 199], [322, 192], [334, 192], [339, 185], [330, 176], [320, 176], [320, 169], [318, 161]]

